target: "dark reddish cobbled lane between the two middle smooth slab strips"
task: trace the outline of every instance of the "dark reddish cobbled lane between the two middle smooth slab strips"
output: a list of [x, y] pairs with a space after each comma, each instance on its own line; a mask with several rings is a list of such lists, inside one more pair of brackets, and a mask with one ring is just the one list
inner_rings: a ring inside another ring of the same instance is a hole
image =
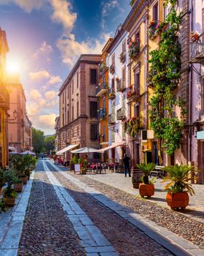
[[[90, 217], [93, 224], [111, 242], [119, 255], [172, 255], [167, 249], [157, 244], [149, 236], [146, 236], [144, 232], [120, 217], [119, 214], [91, 197], [83, 189], [69, 181], [68, 178], [64, 178], [49, 163], [47, 165], [58, 181], [60, 181], [60, 184], [63, 184], [63, 187], [67, 189], [71, 197], [74, 197], [74, 200], [76, 200], [82, 210]], [[109, 200], [109, 203], [111, 203], [111, 200]]]

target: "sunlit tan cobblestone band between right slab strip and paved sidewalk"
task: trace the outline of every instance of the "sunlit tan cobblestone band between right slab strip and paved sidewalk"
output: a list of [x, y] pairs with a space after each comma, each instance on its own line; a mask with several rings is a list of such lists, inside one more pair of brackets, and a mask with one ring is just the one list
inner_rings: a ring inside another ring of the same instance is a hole
[[187, 239], [192, 244], [196, 244], [200, 249], [204, 249], [204, 224], [202, 222], [198, 222], [178, 212], [170, 211], [168, 208], [157, 206], [148, 200], [139, 199], [136, 195], [130, 195], [120, 189], [95, 181], [93, 178], [88, 178], [88, 176], [77, 176], [74, 173], [67, 173], [84, 182], [89, 187], [102, 192], [111, 200], [132, 209], [136, 213], [141, 214], [141, 216], [146, 217], [146, 219], [157, 223], [157, 225], [162, 225], [162, 227]]

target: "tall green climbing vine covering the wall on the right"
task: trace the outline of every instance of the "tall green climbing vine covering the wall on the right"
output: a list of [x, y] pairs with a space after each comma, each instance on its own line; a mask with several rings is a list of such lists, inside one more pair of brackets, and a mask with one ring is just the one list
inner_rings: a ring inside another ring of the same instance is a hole
[[[165, 23], [168, 29], [160, 31], [158, 50], [150, 53], [152, 64], [149, 70], [149, 80], [154, 86], [151, 99], [152, 110], [149, 112], [151, 127], [156, 138], [163, 141], [163, 148], [167, 154], [173, 154], [180, 147], [184, 127], [185, 102], [176, 97], [176, 87], [179, 83], [181, 69], [181, 45], [178, 42], [178, 29], [181, 13], [177, 14], [177, 0], [166, 0], [165, 6], [170, 4]], [[181, 110], [181, 121], [176, 116], [176, 109]]]

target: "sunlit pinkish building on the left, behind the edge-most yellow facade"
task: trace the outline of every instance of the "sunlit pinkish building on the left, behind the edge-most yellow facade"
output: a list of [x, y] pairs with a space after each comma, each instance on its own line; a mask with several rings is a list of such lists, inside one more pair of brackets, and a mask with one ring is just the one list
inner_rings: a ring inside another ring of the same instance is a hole
[[9, 146], [16, 148], [17, 152], [31, 150], [31, 121], [26, 116], [26, 97], [18, 74], [7, 75], [7, 88], [10, 96]]

